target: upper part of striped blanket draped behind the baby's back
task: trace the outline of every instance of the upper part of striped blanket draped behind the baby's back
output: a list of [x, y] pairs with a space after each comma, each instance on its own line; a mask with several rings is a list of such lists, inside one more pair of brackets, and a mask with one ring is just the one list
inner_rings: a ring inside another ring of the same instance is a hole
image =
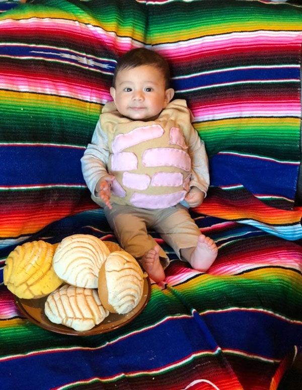
[[205, 141], [198, 211], [301, 238], [301, 42], [302, 10], [284, 4], [37, 0], [3, 13], [0, 245], [96, 207], [80, 158], [117, 57], [139, 46], [169, 60]]

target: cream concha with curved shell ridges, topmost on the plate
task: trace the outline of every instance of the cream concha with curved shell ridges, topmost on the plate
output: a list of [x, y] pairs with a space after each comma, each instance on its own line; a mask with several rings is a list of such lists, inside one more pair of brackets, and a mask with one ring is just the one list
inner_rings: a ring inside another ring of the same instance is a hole
[[97, 288], [98, 275], [110, 251], [90, 234], [65, 237], [53, 256], [53, 268], [65, 282], [78, 287]]

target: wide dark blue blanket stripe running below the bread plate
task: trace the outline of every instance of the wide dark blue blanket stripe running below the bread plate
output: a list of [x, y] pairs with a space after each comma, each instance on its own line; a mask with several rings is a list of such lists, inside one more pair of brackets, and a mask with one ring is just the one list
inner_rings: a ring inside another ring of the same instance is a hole
[[[265, 324], [265, 326], [257, 326], [258, 333], [250, 334], [247, 340], [246, 329], [249, 329], [253, 323]], [[278, 340], [278, 350], [275, 348], [272, 350], [275, 341], [267, 339], [267, 327], [273, 330], [271, 334], [274, 335], [274, 340]], [[281, 358], [288, 352], [288, 345], [302, 343], [300, 325], [297, 324], [296, 331], [293, 330], [293, 323], [280, 321], [280, 318], [261, 312], [235, 310], [207, 314], [203, 317], [195, 314], [193, 318], [167, 320], [154, 328], [109, 342], [100, 350], [81, 348], [68, 350], [67, 348], [59, 352], [45, 351], [46, 353], [24, 356], [22, 364], [20, 359], [3, 360], [2, 370], [14, 372], [15, 385], [20, 383], [20, 387], [14, 387], [14, 390], [18, 390], [23, 388], [23, 383], [27, 384], [27, 388], [40, 388], [37, 380], [41, 381], [43, 377], [47, 377], [48, 388], [71, 380], [90, 378], [92, 367], [95, 367], [93, 372], [97, 372], [100, 377], [118, 375], [122, 372], [155, 370], [190, 357], [192, 352], [215, 355], [219, 352], [218, 345], [222, 351], [225, 349], [240, 353], [244, 350], [246, 354], [256, 355], [259, 358], [262, 356]], [[216, 340], [212, 335], [215, 335]], [[89, 339], [87, 338], [87, 345]], [[97, 345], [98, 337], [95, 336], [94, 346]], [[68, 362], [68, 370], [65, 369], [66, 362]], [[49, 376], [49, 366], [55, 372], [52, 377]], [[2, 382], [2, 385], [4, 388], [9, 388], [9, 383]]]

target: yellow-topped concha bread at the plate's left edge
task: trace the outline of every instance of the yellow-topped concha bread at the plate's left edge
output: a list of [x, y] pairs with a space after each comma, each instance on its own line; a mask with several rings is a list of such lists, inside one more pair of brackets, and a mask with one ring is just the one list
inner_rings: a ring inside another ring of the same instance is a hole
[[19, 298], [34, 299], [47, 296], [62, 284], [52, 267], [55, 247], [42, 240], [17, 246], [5, 262], [8, 289]]

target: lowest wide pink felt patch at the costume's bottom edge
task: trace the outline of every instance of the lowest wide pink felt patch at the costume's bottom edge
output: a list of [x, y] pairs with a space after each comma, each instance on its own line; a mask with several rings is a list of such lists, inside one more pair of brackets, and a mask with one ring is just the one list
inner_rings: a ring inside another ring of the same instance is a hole
[[186, 196], [186, 191], [178, 191], [164, 195], [147, 195], [134, 192], [130, 198], [131, 205], [142, 209], [166, 209], [181, 202]]

